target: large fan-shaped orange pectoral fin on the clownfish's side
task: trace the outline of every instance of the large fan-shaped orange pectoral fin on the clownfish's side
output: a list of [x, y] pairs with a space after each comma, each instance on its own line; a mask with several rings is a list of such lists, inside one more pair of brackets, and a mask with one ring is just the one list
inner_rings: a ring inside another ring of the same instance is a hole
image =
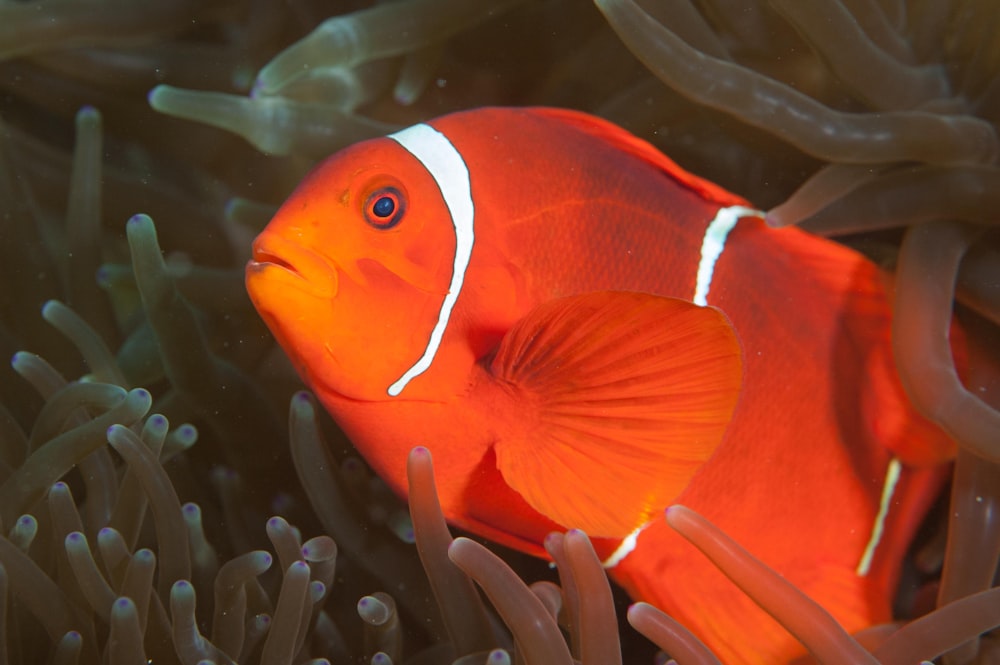
[[563, 526], [621, 538], [715, 451], [742, 359], [717, 309], [600, 291], [532, 310], [490, 371], [509, 398], [512, 424], [494, 446], [504, 481]]

